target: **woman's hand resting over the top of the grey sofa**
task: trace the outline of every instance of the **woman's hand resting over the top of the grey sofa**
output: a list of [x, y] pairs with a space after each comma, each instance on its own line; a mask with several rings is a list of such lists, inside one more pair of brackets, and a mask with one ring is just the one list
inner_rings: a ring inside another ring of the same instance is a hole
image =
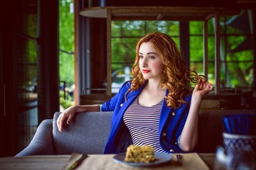
[[65, 109], [65, 111], [60, 113], [57, 119], [57, 126], [60, 132], [62, 132], [63, 130], [64, 121], [67, 120], [67, 124], [69, 124], [71, 119], [74, 117], [74, 115], [75, 115], [75, 106], [70, 106], [69, 108]]

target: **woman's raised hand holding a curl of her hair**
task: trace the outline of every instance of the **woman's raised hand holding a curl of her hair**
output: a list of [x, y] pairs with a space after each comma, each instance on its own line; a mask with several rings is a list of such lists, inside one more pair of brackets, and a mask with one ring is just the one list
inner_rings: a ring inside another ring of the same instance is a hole
[[196, 84], [195, 89], [193, 89], [193, 95], [205, 96], [213, 90], [213, 84], [210, 84], [206, 79], [200, 79], [198, 84]]

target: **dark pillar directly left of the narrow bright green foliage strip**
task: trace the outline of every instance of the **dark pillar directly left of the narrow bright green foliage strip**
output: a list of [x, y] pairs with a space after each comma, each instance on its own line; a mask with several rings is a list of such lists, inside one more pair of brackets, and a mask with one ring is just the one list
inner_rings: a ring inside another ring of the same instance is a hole
[[41, 0], [38, 36], [38, 119], [53, 118], [59, 111], [58, 0]]

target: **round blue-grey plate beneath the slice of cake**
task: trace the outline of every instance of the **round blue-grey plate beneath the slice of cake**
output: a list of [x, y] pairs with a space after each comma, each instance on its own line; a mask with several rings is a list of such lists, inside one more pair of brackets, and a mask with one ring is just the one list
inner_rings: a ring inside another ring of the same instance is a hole
[[165, 162], [169, 162], [171, 160], [171, 154], [164, 154], [161, 152], [154, 152], [154, 157], [156, 158], [156, 161], [149, 162], [149, 163], [135, 163], [135, 162], [125, 162], [125, 152], [117, 154], [113, 157], [114, 162], [126, 164], [129, 166], [154, 166], [158, 164], [163, 164]]

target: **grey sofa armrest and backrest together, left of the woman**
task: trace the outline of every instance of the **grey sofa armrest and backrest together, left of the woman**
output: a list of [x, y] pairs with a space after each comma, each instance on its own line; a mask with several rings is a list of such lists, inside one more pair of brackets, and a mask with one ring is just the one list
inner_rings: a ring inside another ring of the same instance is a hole
[[56, 112], [53, 119], [43, 120], [31, 143], [16, 157], [38, 154], [102, 154], [110, 133], [112, 112], [87, 112], [75, 115], [63, 132], [57, 128]]

